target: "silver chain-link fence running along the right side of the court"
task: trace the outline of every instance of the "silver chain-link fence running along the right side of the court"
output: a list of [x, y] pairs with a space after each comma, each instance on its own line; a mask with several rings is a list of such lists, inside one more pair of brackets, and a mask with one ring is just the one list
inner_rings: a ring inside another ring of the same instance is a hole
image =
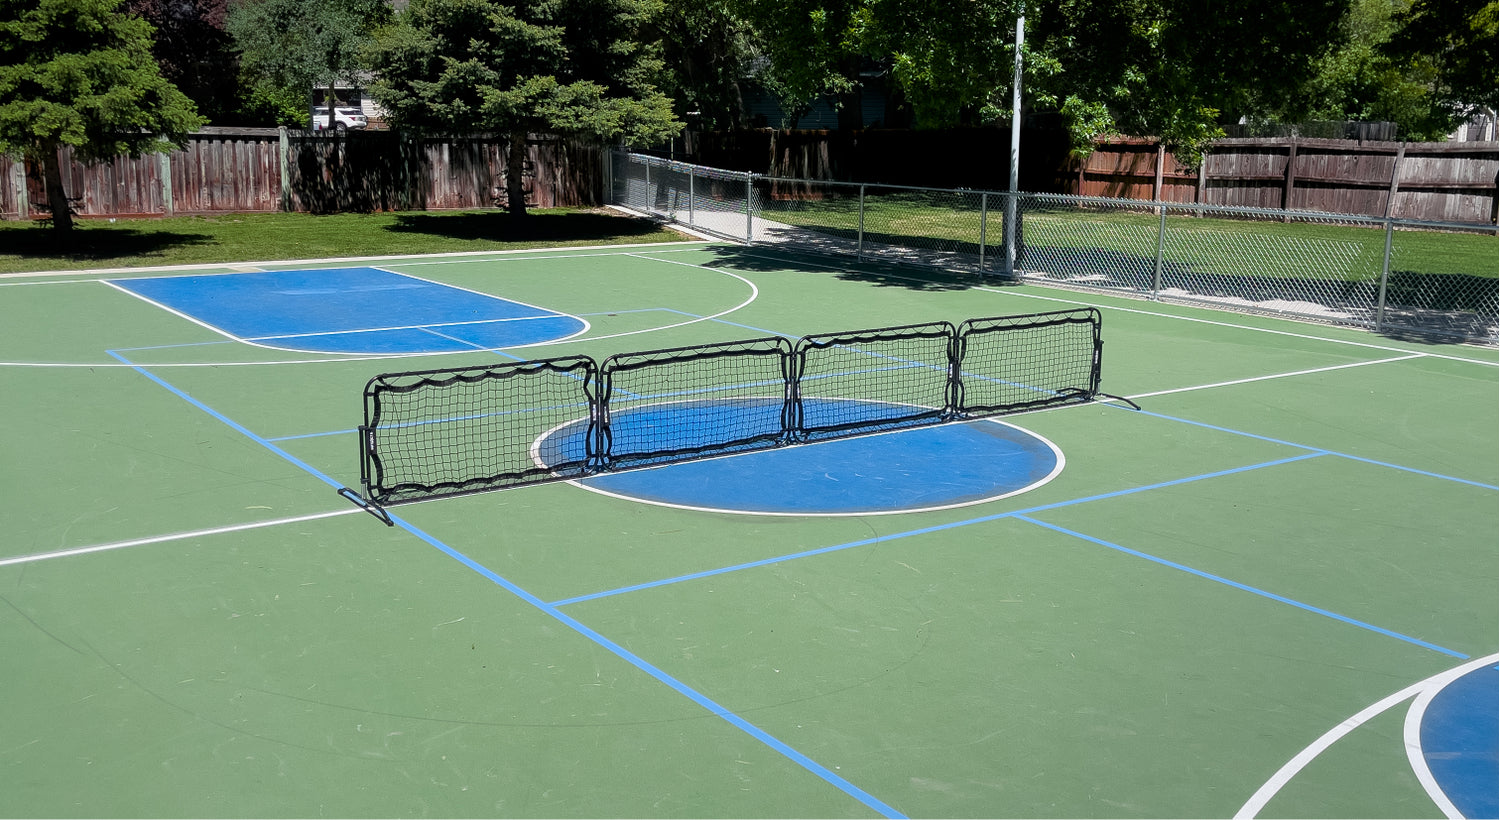
[[1500, 345], [1494, 225], [789, 180], [622, 151], [608, 187], [750, 244]]

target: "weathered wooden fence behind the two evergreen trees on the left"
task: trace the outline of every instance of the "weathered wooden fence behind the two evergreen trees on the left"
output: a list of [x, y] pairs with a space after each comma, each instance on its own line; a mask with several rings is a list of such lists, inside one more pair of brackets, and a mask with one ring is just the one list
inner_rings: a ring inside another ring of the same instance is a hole
[[[477, 135], [204, 129], [180, 151], [82, 163], [64, 148], [63, 187], [78, 216], [444, 210], [506, 205], [506, 142]], [[526, 141], [526, 204], [596, 205], [597, 147]], [[0, 157], [0, 216], [48, 216], [38, 168]]]

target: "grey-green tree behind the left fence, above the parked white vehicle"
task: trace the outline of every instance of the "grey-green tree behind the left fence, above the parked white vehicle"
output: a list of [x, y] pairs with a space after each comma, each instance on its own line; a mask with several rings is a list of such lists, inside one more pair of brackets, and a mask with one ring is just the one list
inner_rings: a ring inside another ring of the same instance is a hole
[[244, 0], [230, 7], [225, 27], [258, 87], [254, 99], [306, 99], [326, 88], [332, 129], [334, 85], [358, 82], [360, 51], [390, 13], [387, 0]]

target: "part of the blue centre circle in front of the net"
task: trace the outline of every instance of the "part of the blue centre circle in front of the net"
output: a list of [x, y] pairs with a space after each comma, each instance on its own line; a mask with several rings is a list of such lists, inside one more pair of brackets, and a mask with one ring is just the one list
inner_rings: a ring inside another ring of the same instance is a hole
[[597, 475], [591, 490], [698, 510], [792, 516], [910, 513], [992, 501], [1062, 468], [1047, 439], [968, 421]]

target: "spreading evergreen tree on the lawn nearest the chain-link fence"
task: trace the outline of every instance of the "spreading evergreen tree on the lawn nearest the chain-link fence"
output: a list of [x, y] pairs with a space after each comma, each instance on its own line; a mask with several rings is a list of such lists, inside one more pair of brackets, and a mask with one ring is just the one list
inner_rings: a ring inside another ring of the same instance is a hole
[[642, 0], [412, 0], [366, 51], [370, 96], [412, 132], [494, 132], [506, 199], [526, 213], [526, 133], [658, 142], [681, 132], [639, 31]]

